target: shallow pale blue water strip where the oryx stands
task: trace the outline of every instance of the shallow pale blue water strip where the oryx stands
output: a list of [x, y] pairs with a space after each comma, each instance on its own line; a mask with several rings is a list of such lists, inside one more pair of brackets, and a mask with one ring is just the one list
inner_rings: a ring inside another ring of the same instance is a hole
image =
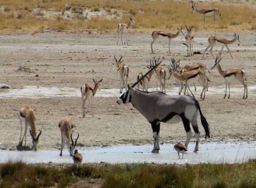
[[[151, 153], [153, 145], [117, 145], [104, 148], [89, 148], [79, 150], [83, 155], [82, 163], [107, 162], [115, 163], [179, 163], [197, 164], [206, 163], [234, 163], [246, 162], [248, 159], [256, 158], [256, 142], [239, 144], [219, 144], [206, 143], [199, 145], [197, 153], [193, 153], [195, 144], [190, 144], [184, 158], [179, 159], [178, 153], [173, 148], [174, 145], [160, 145], [158, 154]], [[0, 163], [8, 160], [22, 160], [26, 163], [72, 163], [67, 149], [63, 151], [63, 156], [59, 156], [59, 150], [51, 151], [0, 151]], [[182, 157], [182, 153], [180, 153]]]

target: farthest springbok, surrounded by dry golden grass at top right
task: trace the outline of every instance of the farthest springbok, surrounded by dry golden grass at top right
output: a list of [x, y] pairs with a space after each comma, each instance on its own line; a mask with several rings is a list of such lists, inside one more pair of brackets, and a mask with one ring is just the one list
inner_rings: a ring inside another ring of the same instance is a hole
[[204, 18], [204, 22], [205, 22], [205, 17], [212, 17], [213, 16], [213, 20], [215, 21], [215, 15], [217, 15], [220, 19], [222, 19], [220, 11], [218, 8], [207, 8], [207, 9], [197, 9], [195, 6], [195, 3], [192, 2], [192, 9], [191, 9], [191, 13], [193, 12], [197, 12], [202, 14], [202, 16], [200, 17], [200, 21], [202, 18]]

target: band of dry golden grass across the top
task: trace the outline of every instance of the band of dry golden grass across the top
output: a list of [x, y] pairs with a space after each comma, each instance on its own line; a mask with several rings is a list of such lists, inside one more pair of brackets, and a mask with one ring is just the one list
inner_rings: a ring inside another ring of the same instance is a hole
[[[198, 9], [218, 7], [223, 19], [206, 18], [191, 13], [191, 3], [186, 0], [2, 0], [0, 1], [0, 31], [24, 32], [49, 28], [61, 30], [116, 30], [119, 22], [128, 23], [131, 15], [136, 30], [176, 30], [193, 25], [195, 30], [241, 31], [256, 29], [256, 2], [233, 1], [197, 2]], [[69, 9], [67, 9], [69, 7]], [[38, 14], [35, 12], [41, 11]], [[79, 11], [79, 12], [78, 12]], [[86, 11], [97, 12], [90, 17]], [[104, 11], [109, 17], [100, 15]], [[55, 12], [56, 14], [52, 14]], [[114, 16], [115, 18], [110, 18]]]

